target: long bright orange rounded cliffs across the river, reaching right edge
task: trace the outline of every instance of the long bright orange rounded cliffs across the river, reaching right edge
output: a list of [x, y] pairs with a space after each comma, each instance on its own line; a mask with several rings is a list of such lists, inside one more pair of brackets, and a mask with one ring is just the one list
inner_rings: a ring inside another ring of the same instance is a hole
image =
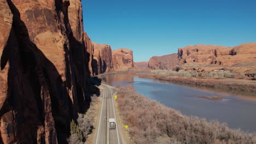
[[246, 70], [256, 66], [255, 54], [256, 43], [246, 43], [235, 47], [200, 44], [178, 49], [179, 64], [183, 67], [189, 65], [190, 67], [196, 67], [196, 65], [213, 67], [215, 64], [214, 67], [237, 67], [235, 69]]

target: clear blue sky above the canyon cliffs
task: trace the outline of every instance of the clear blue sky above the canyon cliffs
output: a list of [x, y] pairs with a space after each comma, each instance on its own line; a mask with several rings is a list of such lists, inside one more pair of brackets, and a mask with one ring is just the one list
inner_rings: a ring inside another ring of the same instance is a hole
[[135, 62], [195, 44], [256, 42], [255, 0], [82, 0], [84, 30]]

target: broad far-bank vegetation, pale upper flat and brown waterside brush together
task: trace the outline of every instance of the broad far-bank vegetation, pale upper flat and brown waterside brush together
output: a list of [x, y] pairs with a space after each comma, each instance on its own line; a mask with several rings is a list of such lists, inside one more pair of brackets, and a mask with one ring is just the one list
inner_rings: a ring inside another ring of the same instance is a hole
[[[224, 79], [236, 77], [241, 77], [243, 79], [245, 74], [235, 74], [229, 71], [209, 71], [203, 73], [197, 73], [195, 70], [152, 70], [148, 75], [140, 75], [141, 77], [152, 77], [158, 80], [169, 81], [172, 83], [178, 83], [189, 86], [196, 87], [207, 87], [218, 89], [222, 91], [237, 92], [244, 94], [245, 92], [249, 95], [255, 95], [256, 85], [253, 82], [237, 82], [237, 81], [225, 81], [225, 80], [213, 80], [213, 79]], [[254, 73], [254, 70], [248, 71], [246, 74]], [[255, 73], [256, 74], [256, 73]], [[202, 78], [204, 77], [204, 78]], [[206, 79], [206, 77], [211, 77], [211, 79]], [[191, 79], [193, 78], [193, 79]], [[251, 76], [251, 80], [256, 80], [256, 75]]]

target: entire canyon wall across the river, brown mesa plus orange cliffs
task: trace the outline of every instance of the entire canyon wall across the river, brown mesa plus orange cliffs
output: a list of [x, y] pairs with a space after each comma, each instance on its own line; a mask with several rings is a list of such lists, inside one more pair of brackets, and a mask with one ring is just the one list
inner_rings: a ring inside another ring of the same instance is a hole
[[246, 71], [256, 68], [256, 43], [234, 47], [216, 45], [193, 45], [179, 48], [178, 53], [149, 60], [150, 69], [206, 69], [229, 68]]

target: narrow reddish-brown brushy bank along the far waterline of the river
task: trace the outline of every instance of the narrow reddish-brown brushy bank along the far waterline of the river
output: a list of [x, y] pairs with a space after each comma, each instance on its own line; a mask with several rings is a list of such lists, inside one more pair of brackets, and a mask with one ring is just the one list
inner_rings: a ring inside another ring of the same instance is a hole
[[167, 81], [178, 85], [210, 88], [224, 92], [256, 96], [256, 81], [253, 80], [186, 78], [166, 75], [155, 75], [151, 73], [127, 73], [127, 75]]

